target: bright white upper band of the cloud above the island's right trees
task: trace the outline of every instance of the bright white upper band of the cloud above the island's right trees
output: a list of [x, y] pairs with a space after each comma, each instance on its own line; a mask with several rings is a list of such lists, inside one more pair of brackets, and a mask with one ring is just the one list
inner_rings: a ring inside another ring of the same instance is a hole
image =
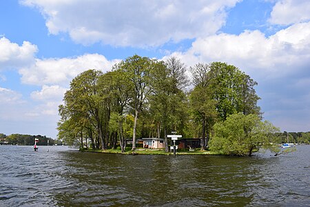
[[[298, 23], [270, 37], [262, 32], [216, 34], [200, 38], [184, 53], [174, 53], [192, 66], [224, 61], [261, 77], [281, 77], [310, 64], [310, 22]], [[298, 67], [296, 67], [298, 66]]]

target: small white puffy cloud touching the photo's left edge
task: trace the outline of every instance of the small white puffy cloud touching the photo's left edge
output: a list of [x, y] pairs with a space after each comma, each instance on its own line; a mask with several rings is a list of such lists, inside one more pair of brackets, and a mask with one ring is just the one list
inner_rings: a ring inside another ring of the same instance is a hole
[[34, 62], [37, 46], [23, 41], [22, 46], [12, 43], [6, 37], [0, 38], [0, 70], [28, 66]]

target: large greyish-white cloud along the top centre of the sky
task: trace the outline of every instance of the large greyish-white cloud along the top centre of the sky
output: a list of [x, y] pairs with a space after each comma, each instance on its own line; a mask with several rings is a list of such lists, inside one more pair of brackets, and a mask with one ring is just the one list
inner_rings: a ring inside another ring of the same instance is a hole
[[224, 24], [227, 8], [240, 0], [49, 1], [23, 0], [39, 8], [51, 34], [68, 32], [77, 43], [113, 46], [160, 46], [214, 34]]

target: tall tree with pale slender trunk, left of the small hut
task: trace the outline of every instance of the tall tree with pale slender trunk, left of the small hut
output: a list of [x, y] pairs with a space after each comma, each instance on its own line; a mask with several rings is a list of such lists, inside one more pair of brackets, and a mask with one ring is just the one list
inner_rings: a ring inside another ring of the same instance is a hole
[[123, 71], [132, 88], [132, 108], [134, 109], [134, 128], [132, 136], [132, 150], [136, 149], [136, 126], [138, 116], [149, 94], [149, 72], [154, 68], [154, 61], [147, 57], [134, 55], [121, 61], [115, 67]]

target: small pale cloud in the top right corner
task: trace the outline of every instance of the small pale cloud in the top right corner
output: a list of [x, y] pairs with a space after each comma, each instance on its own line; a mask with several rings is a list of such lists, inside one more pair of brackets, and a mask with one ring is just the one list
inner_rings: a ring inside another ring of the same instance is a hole
[[309, 11], [309, 0], [281, 0], [273, 7], [269, 21], [280, 25], [309, 21]]

